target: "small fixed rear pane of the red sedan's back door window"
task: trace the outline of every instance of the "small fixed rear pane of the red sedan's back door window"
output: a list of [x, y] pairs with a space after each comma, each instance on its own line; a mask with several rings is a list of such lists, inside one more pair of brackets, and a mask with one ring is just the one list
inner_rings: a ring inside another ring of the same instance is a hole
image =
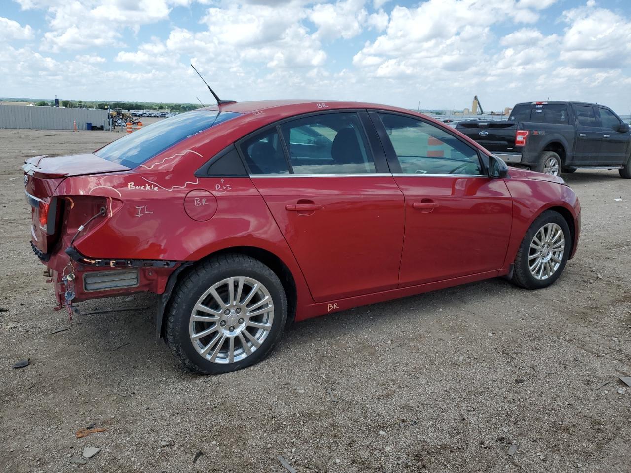
[[246, 139], [240, 148], [251, 175], [289, 174], [289, 164], [276, 128]]

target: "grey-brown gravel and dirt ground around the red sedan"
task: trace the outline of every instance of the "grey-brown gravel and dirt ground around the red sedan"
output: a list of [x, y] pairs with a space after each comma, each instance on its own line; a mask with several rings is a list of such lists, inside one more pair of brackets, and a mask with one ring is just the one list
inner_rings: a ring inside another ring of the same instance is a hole
[[[149, 296], [81, 303], [140, 308], [73, 322], [54, 312], [28, 245], [23, 159], [118, 136], [0, 130], [1, 471], [286, 471], [279, 455], [298, 472], [631, 471], [631, 388], [616, 379], [631, 376], [631, 182], [618, 173], [567, 177], [581, 246], [551, 288], [492, 280], [317, 318], [259, 365], [197, 377], [155, 340]], [[77, 438], [90, 424], [107, 430]], [[71, 463], [84, 447], [101, 451]]]

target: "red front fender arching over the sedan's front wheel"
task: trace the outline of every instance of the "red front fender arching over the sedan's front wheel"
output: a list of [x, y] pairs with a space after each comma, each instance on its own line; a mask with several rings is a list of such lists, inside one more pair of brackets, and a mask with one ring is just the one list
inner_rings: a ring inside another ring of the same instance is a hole
[[570, 257], [573, 257], [581, 233], [581, 206], [574, 190], [567, 185], [532, 178], [516, 177], [505, 181], [513, 198], [513, 225], [504, 262], [505, 269], [514, 262], [519, 245], [533, 221], [553, 207], [566, 209], [574, 219], [575, 235], [570, 253]]

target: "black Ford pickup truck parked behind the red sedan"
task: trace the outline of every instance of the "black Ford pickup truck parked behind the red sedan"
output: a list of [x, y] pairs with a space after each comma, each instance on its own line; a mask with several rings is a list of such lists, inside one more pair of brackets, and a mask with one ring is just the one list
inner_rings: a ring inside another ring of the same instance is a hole
[[456, 126], [510, 165], [551, 175], [618, 169], [631, 178], [629, 126], [610, 108], [581, 102], [517, 103], [508, 121]]

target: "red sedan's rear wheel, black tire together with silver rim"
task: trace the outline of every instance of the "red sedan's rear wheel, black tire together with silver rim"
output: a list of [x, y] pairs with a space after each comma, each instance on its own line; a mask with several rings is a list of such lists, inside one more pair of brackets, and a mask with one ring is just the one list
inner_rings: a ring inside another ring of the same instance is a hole
[[175, 287], [165, 340], [184, 368], [218, 375], [266, 358], [286, 319], [285, 289], [269, 267], [247, 255], [220, 255], [194, 266]]

